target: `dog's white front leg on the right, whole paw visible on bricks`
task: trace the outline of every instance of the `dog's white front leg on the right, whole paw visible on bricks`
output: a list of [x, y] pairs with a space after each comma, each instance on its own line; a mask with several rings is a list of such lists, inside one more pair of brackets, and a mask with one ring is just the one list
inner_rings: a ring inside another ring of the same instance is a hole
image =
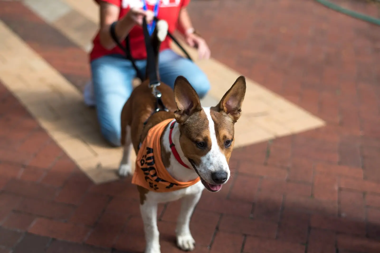
[[199, 192], [182, 198], [176, 234], [178, 247], [185, 251], [193, 250], [195, 247], [195, 241], [190, 233], [190, 219], [201, 195], [202, 192]]

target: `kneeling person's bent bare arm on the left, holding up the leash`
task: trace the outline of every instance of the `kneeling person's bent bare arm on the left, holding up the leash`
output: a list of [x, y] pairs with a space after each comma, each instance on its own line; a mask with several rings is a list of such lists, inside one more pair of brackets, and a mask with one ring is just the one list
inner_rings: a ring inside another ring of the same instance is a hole
[[[100, 44], [108, 50], [114, 48], [116, 45], [109, 33], [109, 27], [113, 22], [119, 19], [119, 12], [120, 7], [100, 1]], [[117, 21], [115, 31], [120, 41], [123, 41], [125, 37], [127, 37], [135, 24], [135, 21], [128, 14]]]

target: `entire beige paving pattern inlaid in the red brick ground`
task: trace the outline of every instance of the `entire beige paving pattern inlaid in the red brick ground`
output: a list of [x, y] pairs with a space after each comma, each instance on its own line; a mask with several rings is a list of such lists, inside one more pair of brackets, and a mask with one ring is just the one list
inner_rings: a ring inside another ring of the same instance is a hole
[[[30, 8], [59, 29], [79, 47], [89, 50], [97, 29], [98, 7], [93, 0], [62, 0], [70, 11], [46, 18], [46, 11], [28, 0]], [[32, 7], [33, 6], [33, 7]], [[109, 147], [101, 137], [95, 111], [82, 103], [82, 95], [60, 73], [31, 50], [16, 34], [0, 23], [0, 75], [5, 85], [29, 109], [53, 139], [96, 183], [117, 180], [115, 173], [121, 148]], [[204, 106], [215, 105], [240, 73], [215, 59], [198, 61], [196, 51], [185, 46], [196, 64], [207, 74], [212, 87], [202, 100]], [[177, 52], [178, 48], [173, 45]], [[16, 73], [16, 69], [25, 73]], [[288, 102], [258, 83], [247, 80], [247, 92], [241, 119], [236, 123], [235, 147], [243, 147], [275, 137], [299, 133], [325, 123], [302, 108]], [[27, 96], [34, 94], [33, 98]], [[135, 159], [132, 152], [131, 159]]]

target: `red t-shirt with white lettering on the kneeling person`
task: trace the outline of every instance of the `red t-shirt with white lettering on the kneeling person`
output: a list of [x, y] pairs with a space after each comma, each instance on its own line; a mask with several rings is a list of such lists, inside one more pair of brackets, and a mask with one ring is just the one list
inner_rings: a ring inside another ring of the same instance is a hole
[[[95, 0], [96, 2], [99, 2], [100, 0]], [[123, 17], [127, 12], [129, 11], [130, 7], [140, 7], [142, 9], [143, 2], [141, 0], [101, 0], [104, 2], [111, 3], [113, 5], [120, 7], [120, 14], [119, 19]], [[173, 33], [176, 30], [177, 27], [177, 20], [179, 11], [181, 8], [184, 8], [188, 5], [190, 0], [158, 0], [160, 1], [160, 6], [158, 9], [158, 19], [164, 19], [166, 22], [168, 22], [169, 25], [169, 32]], [[152, 10], [154, 9], [154, 6], [156, 4], [156, 0], [146, 0], [146, 4], [148, 6], [148, 9]], [[132, 30], [129, 33], [130, 38], [130, 48], [131, 48], [131, 55], [135, 59], [146, 59], [146, 48], [145, 48], [145, 41], [144, 41], [144, 34], [142, 33], [142, 28], [139, 26], [135, 26], [132, 28]], [[125, 46], [125, 43], [123, 42], [122, 45]], [[170, 38], [167, 36], [165, 41], [161, 43], [160, 51], [167, 49], [170, 47]], [[110, 55], [110, 54], [122, 54], [124, 55], [123, 51], [115, 46], [111, 50], [107, 50], [100, 44], [100, 38], [99, 38], [99, 32], [93, 39], [93, 48], [90, 53], [90, 61], [93, 61], [94, 59], [97, 59], [104, 55]]]

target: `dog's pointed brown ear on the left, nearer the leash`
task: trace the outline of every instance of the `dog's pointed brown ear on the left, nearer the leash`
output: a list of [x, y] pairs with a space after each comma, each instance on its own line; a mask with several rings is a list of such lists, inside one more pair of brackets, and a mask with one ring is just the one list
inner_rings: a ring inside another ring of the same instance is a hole
[[194, 112], [202, 110], [198, 94], [185, 77], [178, 76], [174, 82], [174, 100], [177, 104], [174, 117], [180, 124]]

